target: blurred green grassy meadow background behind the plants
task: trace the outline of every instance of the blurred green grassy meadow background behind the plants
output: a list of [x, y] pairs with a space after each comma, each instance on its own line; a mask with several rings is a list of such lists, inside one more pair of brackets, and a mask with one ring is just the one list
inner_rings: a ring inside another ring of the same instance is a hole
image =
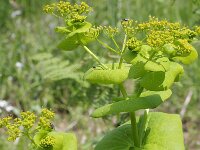
[[[56, 0], [0, 1], [0, 115], [18, 115], [21, 110], [38, 112], [42, 107], [57, 112], [56, 129], [74, 131], [80, 150], [92, 150], [102, 135], [126, 120], [126, 114], [103, 119], [89, 117], [94, 108], [108, 103], [117, 94], [112, 86], [100, 87], [83, 81], [83, 72], [95, 65], [81, 49], [63, 52], [56, 48], [61, 36], [54, 27], [62, 22], [43, 13], [45, 4]], [[71, 2], [80, 2], [71, 0]], [[86, 0], [94, 9], [89, 20], [96, 25], [119, 26], [123, 18], [145, 21], [149, 15], [178, 21], [188, 26], [200, 25], [200, 0]], [[118, 39], [120, 43], [120, 38]], [[200, 42], [193, 43], [200, 51]], [[111, 61], [111, 54], [98, 44], [91, 49]], [[49, 61], [44, 62], [43, 59]], [[57, 64], [65, 63], [60, 76]], [[71, 65], [74, 64], [74, 65]], [[67, 67], [66, 67], [67, 66]], [[51, 72], [55, 70], [54, 72]], [[50, 78], [49, 73], [55, 75]], [[133, 90], [129, 82], [129, 91]], [[116, 89], [114, 87], [114, 89]], [[200, 149], [200, 62], [185, 66], [173, 96], [156, 111], [181, 113], [186, 149]], [[189, 102], [188, 104], [186, 104]], [[184, 107], [184, 103], [185, 106]], [[0, 137], [1, 150], [25, 150], [23, 139], [11, 145]]]

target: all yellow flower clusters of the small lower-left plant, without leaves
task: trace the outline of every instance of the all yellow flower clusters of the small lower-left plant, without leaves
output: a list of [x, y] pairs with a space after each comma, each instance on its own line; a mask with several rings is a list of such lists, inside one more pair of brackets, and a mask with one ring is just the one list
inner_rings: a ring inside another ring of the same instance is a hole
[[[5, 128], [9, 141], [15, 141], [20, 136], [27, 136], [33, 141], [32, 136], [39, 130], [52, 131], [51, 122], [54, 119], [54, 112], [42, 109], [40, 115], [36, 116], [30, 111], [21, 112], [20, 117], [11, 116], [0, 119], [0, 128]], [[53, 145], [53, 138], [46, 137], [41, 141], [41, 146]]]

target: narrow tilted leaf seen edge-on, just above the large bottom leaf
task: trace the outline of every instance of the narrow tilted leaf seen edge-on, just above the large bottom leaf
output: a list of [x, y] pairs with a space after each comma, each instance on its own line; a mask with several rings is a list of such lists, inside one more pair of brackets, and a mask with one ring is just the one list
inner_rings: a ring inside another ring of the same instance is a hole
[[153, 109], [159, 106], [166, 99], [168, 99], [171, 94], [171, 90], [160, 92], [143, 92], [139, 98], [119, 101], [102, 106], [92, 113], [92, 117], [98, 118], [109, 114], [132, 112], [139, 109]]

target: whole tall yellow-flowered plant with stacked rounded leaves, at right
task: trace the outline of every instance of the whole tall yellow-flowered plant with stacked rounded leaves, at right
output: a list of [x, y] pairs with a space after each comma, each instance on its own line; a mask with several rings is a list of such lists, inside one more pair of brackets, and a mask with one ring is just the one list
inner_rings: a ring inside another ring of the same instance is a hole
[[[149, 112], [149, 109], [158, 107], [171, 96], [171, 86], [184, 72], [182, 64], [191, 64], [197, 59], [197, 51], [191, 42], [200, 36], [200, 27], [190, 29], [178, 22], [151, 16], [146, 22], [122, 19], [121, 28], [93, 26], [86, 21], [91, 10], [84, 2], [61, 1], [44, 7], [46, 13], [65, 22], [65, 26], [56, 27], [56, 32], [64, 36], [58, 48], [71, 51], [82, 47], [98, 63], [85, 73], [85, 80], [120, 88], [122, 97], [118, 97], [118, 101], [96, 109], [91, 116], [130, 114], [130, 122], [107, 133], [95, 150], [183, 150], [179, 115]], [[100, 34], [106, 35], [115, 47], [100, 40]], [[122, 34], [121, 44], [115, 39]], [[103, 64], [88, 48], [88, 43], [93, 41], [119, 56], [119, 61]], [[123, 85], [127, 79], [134, 79], [138, 84], [135, 93], [130, 95]], [[144, 114], [136, 119], [135, 111], [140, 109], [145, 109]]]

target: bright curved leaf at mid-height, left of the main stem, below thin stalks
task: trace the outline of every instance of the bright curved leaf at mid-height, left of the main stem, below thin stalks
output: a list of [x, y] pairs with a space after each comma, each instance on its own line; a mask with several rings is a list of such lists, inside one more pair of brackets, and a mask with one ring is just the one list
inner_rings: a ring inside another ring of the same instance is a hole
[[103, 70], [101, 67], [93, 67], [85, 73], [84, 78], [90, 83], [120, 84], [128, 78], [130, 65], [123, 64], [121, 69], [117, 69], [117, 64], [114, 65], [114, 68], [112, 65], [107, 65], [110, 68], [108, 70]]

